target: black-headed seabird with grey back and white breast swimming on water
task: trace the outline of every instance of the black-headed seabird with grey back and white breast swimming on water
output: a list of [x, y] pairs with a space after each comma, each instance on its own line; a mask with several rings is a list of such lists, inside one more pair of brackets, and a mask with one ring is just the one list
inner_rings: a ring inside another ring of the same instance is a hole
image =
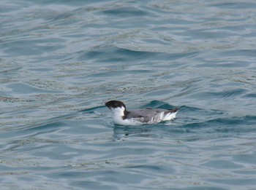
[[127, 111], [127, 107], [123, 102], [118, 100], [110, 100], [105, 103], [113, 114], [113, 122], [121, 125], [140, 125], [154, 124], [174, 119], [178, 112], [178, 108], [174, 109], [137, 109]]

